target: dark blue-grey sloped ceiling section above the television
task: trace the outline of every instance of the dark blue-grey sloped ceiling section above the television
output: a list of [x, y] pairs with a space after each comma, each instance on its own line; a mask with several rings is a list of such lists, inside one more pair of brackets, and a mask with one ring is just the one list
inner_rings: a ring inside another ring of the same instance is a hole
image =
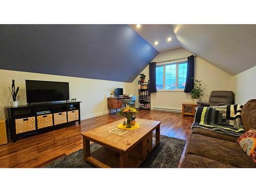
[[158, 53], [127, 25], [0, 25], [0, 69], [132, 82]]

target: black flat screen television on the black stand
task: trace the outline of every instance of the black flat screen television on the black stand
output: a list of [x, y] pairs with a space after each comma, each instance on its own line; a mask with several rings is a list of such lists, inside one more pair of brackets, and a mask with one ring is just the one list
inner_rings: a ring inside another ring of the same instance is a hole
[[69, 83], [26, 80], [27, 103], [69, 100]]

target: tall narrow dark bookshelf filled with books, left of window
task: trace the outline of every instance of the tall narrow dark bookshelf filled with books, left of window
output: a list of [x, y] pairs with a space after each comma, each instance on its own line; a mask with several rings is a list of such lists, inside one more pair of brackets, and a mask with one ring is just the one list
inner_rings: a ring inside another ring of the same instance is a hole
[[138, 95], [139, 95], [139, 109], [140, 110], [150, 110], [150, 90], [148, 89], [148, 85], [150, 83], [150, 80], [148, 82], [138, 82]]

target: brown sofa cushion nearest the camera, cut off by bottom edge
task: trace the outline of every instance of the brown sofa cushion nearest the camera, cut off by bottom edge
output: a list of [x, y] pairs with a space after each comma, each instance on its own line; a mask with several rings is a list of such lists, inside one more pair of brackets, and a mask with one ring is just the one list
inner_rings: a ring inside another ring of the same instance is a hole
[[207, 159], [205, 157], [188, 154], [183, 159], [181, 166], [185, 168], [234, 168], [234, 166]]

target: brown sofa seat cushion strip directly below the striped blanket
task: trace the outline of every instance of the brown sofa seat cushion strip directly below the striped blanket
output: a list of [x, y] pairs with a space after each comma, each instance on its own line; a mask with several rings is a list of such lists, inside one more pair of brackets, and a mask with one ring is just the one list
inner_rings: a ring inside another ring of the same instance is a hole
[[217, 138], [217, 139], [222, 139], [222, 140], [225, 140], [225, 141], [231, 141], [231, 142], [237, 142], [237, 139], [239, 138], [239, 137], [236, 137], [236, 136], [231, 136], [231, 135], [225, 135], [225, 134], [222, 134], [222, 133], [212, 132], [212, 131], [209, 131], [209, 130], [202, 129], [200, 127], [193, 128], [192, 133], [205, 135], [205, 136], [213, 137], [213, 138]]

